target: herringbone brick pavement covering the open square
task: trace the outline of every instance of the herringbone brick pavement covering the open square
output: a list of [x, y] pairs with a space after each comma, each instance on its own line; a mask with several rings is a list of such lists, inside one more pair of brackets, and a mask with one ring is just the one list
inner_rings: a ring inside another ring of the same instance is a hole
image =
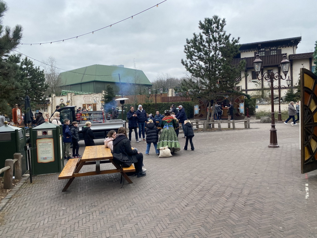
[[123, 188], [119, 174], [76, 178], [67, 192], [58, 174], [35, 176], [1, 211], [0, 235], [317, 237], [317, 172], [300, 173], [299, 127], [277, 124], [275, 149], [268, 124], [251, 127], [197, 133], [195, 151], [170, 158], [151, 148], [147, 175]]

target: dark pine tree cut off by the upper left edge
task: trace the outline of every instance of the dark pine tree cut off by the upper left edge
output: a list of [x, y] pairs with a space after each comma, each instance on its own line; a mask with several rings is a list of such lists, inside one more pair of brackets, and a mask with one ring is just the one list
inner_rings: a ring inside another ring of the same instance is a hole
[[0, 112], [11, 114], [11, 108], [16, 103], [14, 97], [22, 93], [23, 85], [16, 81], [20, 74], [20, 55], [10, 53], [20, 44], [23, 28], [16, 25], [11, 29], [1, 24], [7, 10], [7, 4], [0, 1]]

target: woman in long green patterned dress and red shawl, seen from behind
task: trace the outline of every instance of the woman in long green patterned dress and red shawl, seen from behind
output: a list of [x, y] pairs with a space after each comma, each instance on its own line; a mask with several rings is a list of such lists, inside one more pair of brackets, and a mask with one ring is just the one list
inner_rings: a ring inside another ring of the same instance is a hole
[[176, 119], [171, 116], [170, 111], [165, 111], [165, 116], [160, 124], [162, 131], [159, 137], [158, 148], [168, 146], [171, 154], [180, 150], [180, 144], [175, 133], [177, 127]]

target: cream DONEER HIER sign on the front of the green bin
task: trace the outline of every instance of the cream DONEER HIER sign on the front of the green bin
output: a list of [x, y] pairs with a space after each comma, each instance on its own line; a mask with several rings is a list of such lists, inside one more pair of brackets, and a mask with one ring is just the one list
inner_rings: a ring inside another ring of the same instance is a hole
[[54, 161], [53, 138], [42, 138], [36, 140], [37, 162], [48, 163]]

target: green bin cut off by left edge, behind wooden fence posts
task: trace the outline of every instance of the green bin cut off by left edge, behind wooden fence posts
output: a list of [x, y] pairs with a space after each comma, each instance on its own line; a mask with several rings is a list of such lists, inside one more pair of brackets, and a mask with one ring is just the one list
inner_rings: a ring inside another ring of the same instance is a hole
[[[21, 153], [23, 155], [21, 161], [21, 169], [22, 174], [24, 174], [28, 170], [27, 157], [24, 151], [25, 145], [26, 139], [24, 128], [19, 128], [10, 125], [4, 125], [0, 127], [0, 168], [4, 167], [6, 159], [14, 159], [14, 153]], [[1, 174], [1, 176], [3, 176], [3, 173]]]

